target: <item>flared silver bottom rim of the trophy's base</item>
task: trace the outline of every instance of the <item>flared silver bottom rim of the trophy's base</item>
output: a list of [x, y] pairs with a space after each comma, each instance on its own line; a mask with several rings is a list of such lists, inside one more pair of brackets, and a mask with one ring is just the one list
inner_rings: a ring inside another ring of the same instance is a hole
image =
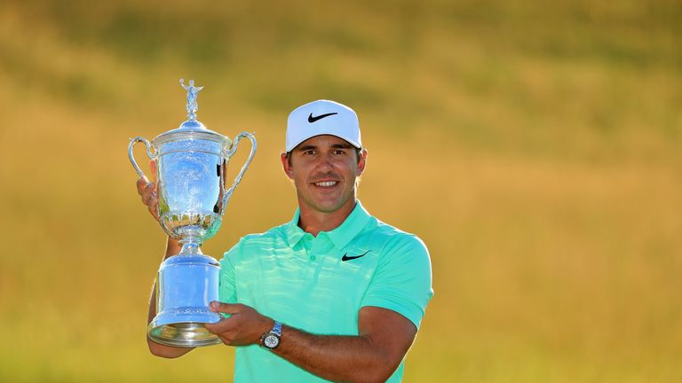
[[182, 318], [178, 318], [177, 315], [173, 317], [176, 323], [163, 324], [155, 320], [149, 324], [147, 333], [149, 338], [166, 346], [196, 348], [218, 344], [222, 340], [218, 338], [218, 335], [206, 330], [203, 325], [218, 322], [219, 316], [216, 313], [211, 314], [210, 317], [206, 316], [198, 321], [197, 315], [194, 314], [191, 316], [192, 322], [179, 322]]

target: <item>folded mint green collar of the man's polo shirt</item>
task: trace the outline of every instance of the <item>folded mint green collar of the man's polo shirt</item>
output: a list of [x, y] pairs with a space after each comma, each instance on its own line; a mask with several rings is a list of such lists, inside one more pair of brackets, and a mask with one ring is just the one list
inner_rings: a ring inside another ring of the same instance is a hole
[[[294, 217], [286, 227], [287, 242], [289, 242], [289, 246], [291, 247], [296, 246], [298, 241], [305, 236], [305, 231], [298, 227], [298, 219], [300, 216], [301, 210], [300, 207], [297, 207]], [[360, 233], [362, 228], [369, 222], [370, 217], [371, 216], [367, 210], [365, 210], [365, 207], [362, 207], [360, 200], [358, 200], [351, 214], [345, 217], [344, 223], [341, 223], [336, 229], [328, 231], [327, 236], [334, 243], [334, 246], [338, 249], [342, 249]]]

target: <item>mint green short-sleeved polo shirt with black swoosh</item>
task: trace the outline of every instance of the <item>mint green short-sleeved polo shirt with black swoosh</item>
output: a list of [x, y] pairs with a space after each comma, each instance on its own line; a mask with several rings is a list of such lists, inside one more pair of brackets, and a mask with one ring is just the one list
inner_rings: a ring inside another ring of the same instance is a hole
[[[305, 332], [358, 335], [364, 306], [391, 309], [418, 328], [433, 295], [424, 242], [356, 204], [317, 237], [289, 223], [242, 238], [220, 261], [220, 301], [243, 303]], [[282, 339], [285, 342], [286, 339]], [[402, 378], [404, 360], [390, 382]], [[236, 349], [236, 382], [326, 381], [258, 345]]]

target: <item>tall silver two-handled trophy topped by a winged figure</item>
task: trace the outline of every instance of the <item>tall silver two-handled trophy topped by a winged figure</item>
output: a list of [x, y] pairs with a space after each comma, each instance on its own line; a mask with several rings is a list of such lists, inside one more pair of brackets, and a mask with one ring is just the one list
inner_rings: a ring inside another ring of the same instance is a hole
[[[242, 132], [229, 138], [206, 129], [196, 121], [197, 93], [194, 80], [186, 86], [187, 121], [151, 143], [143, 137], [131, 139], [128, 157], [140, 177], [145, 174], [132, 154], [138, 142], [147, 146], [158, 187], [157, 213], [165, 231], [178, 238], [182, 249], [167, 258], [159, 268], [156, 283], [156, 317], [147, 332], [156, 342], [193, 348], [220, 343], [203, 324], [215, 323], [220, 316], [210, 311], [210, 301], [218, 301], [218, 262], [202, 254], [202, 242], [213, 237], [222, 223], [227, 201], [256, 153], [256, 138]], [[251, 152], [234, 184], [226, 188], [227, 162], [242, 138], [251, 141]]]

